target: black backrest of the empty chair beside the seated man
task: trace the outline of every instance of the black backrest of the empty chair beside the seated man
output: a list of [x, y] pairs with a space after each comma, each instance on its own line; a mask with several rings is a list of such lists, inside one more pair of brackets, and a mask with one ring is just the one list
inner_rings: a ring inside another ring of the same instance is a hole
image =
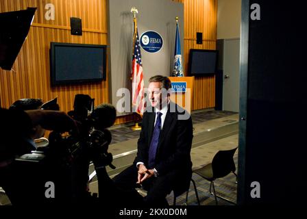
[[218, 151], [212, 159], [212, 172], [214, 179], [225, 177], [230, 172], [236, 170], [234, 164], [234, 152], [236, 149], [231, 149], [227, 151]]

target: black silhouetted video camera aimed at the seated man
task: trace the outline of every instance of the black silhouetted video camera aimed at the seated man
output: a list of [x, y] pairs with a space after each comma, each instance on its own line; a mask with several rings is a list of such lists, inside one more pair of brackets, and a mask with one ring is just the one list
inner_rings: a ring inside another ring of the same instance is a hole
[[79, 133], [69, 133], [69, 136], [62, 137], [61, 133], [53, 131], [49, 135], [49, 142], [68, 146], [73, 157], [86, 157], [89, 162], [114, 168], [111, 164], [112, 154], [108, 153], [112, 136], [106, 128], [114, 124], [116, 110], [110, 104], [101, 104], [94, 109], [94, 100], [86, 94], [76, 94], [74, 110], [68, 114], [79, 122]]

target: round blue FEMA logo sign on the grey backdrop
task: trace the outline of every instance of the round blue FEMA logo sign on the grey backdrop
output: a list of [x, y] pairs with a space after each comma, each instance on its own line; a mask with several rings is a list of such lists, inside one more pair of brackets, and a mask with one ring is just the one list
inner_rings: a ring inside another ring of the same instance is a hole
[[156, 53], [163, 46], [162, 36], [156, 31], [146, 31], [140, 36], [140, 46], [149, 53]]

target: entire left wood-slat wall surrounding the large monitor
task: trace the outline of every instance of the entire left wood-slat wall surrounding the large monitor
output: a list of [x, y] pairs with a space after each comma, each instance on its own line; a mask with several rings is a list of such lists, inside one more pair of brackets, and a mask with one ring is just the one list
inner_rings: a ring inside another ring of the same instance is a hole
[[[55, 20], [45, 19], [45, 5], [55, 5]], [[47, 101], [58, 96], [61, 110], [73, 109], [75, 94], [89, 94], [95, 98], [95, 105], [107, 103], [107, 80], [82, 85], [50, 85], [49, 49], [50, 42], [70, 42], [84, 44], [107, 44], [106, 0], [3, 0], [0, 12], [24, 10], [36, 7], [34, 23], [27, 40], [16, 58], [13, 69], [0, 70], [1, 106], [9, 107], [16, 99], [40, 98]], [[82, 18], [82, 36], [72, 36], [70, 17]], [[107, 60], [108, 62], [108, 60]], [[108, 66], [108, 64], [107, 64]], [[108, 67], [107, 67], [108, 72]]]

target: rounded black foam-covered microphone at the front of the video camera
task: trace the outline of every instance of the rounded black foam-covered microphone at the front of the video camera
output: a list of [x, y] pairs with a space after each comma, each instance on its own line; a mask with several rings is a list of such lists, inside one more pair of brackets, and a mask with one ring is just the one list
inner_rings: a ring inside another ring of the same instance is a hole
[[98, 105], [92, 114], [90, 114], [93, 127], [98, 130], [103, 130], [111, 127], [116, 119], [116, 109], [109, 103]]

